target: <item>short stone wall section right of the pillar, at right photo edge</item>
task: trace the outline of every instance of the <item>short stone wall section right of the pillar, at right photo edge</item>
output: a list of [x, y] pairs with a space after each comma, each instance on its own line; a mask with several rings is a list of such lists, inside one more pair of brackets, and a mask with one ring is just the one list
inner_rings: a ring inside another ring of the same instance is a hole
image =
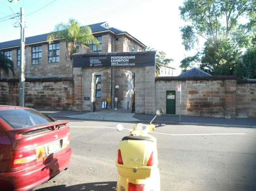
[[256, 80], [237, 80], [237, 118], [256, 118]]

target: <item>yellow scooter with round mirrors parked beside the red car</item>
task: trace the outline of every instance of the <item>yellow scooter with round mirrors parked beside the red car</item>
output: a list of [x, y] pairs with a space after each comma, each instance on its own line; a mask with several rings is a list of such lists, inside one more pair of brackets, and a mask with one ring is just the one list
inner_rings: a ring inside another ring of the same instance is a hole
[[[162, 109], [156, 111], [157, 117], [163, 114]], [[165, 124], [135, 124], [130, 135], [122, 139], [118, 145], [116, 166], [118, 170], [117, 191], [160, 191], [160, 174], [157, 168], [157, 140], [148, 132]], [[116, 125], [122, 131], [123, 125]]]

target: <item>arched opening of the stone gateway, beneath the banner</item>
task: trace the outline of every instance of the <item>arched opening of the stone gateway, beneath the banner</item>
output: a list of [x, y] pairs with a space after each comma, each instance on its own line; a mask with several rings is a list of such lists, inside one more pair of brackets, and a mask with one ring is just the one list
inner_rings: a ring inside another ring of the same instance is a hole
[[94, 72], [92, 111], [115, 108], [131, 110], [134, 102], [134, 76], [134, 72], [116, 67]]

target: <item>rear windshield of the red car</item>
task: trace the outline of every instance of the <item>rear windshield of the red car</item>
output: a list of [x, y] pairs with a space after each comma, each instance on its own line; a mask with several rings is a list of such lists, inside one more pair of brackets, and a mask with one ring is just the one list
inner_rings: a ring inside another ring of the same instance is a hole
[[0, 111], [0, 118], [13, 129], [53, 122], [45, 114], [33, 109], [9, 109]]

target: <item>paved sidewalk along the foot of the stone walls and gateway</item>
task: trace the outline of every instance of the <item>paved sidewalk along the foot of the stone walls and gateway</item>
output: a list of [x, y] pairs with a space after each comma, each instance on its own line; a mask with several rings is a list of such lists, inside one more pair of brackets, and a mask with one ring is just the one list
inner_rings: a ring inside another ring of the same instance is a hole
[[[45, 110], [38, 109], [43, 113], [50, 115], [53, 118], [70, 118], [80, 120], [93, 121], [116, 121], [116, 122], [143, 122], [149, 123], [155, 115], [131, 113], [131, 109], [117, 110], [96, 110], [96, 112], [81, 112], [81, 111], [63, 111], [63, 110]], [[192, 117], [179, 115], [162, 115], [158, 116], [154, 122], [165, 124], [179, 125], [202, 125], [202, 126], [217, 126], [217, 127], [238, 127], [238, 128], [256, 128], [256, 119], [225, 119], [211, 117]]]

